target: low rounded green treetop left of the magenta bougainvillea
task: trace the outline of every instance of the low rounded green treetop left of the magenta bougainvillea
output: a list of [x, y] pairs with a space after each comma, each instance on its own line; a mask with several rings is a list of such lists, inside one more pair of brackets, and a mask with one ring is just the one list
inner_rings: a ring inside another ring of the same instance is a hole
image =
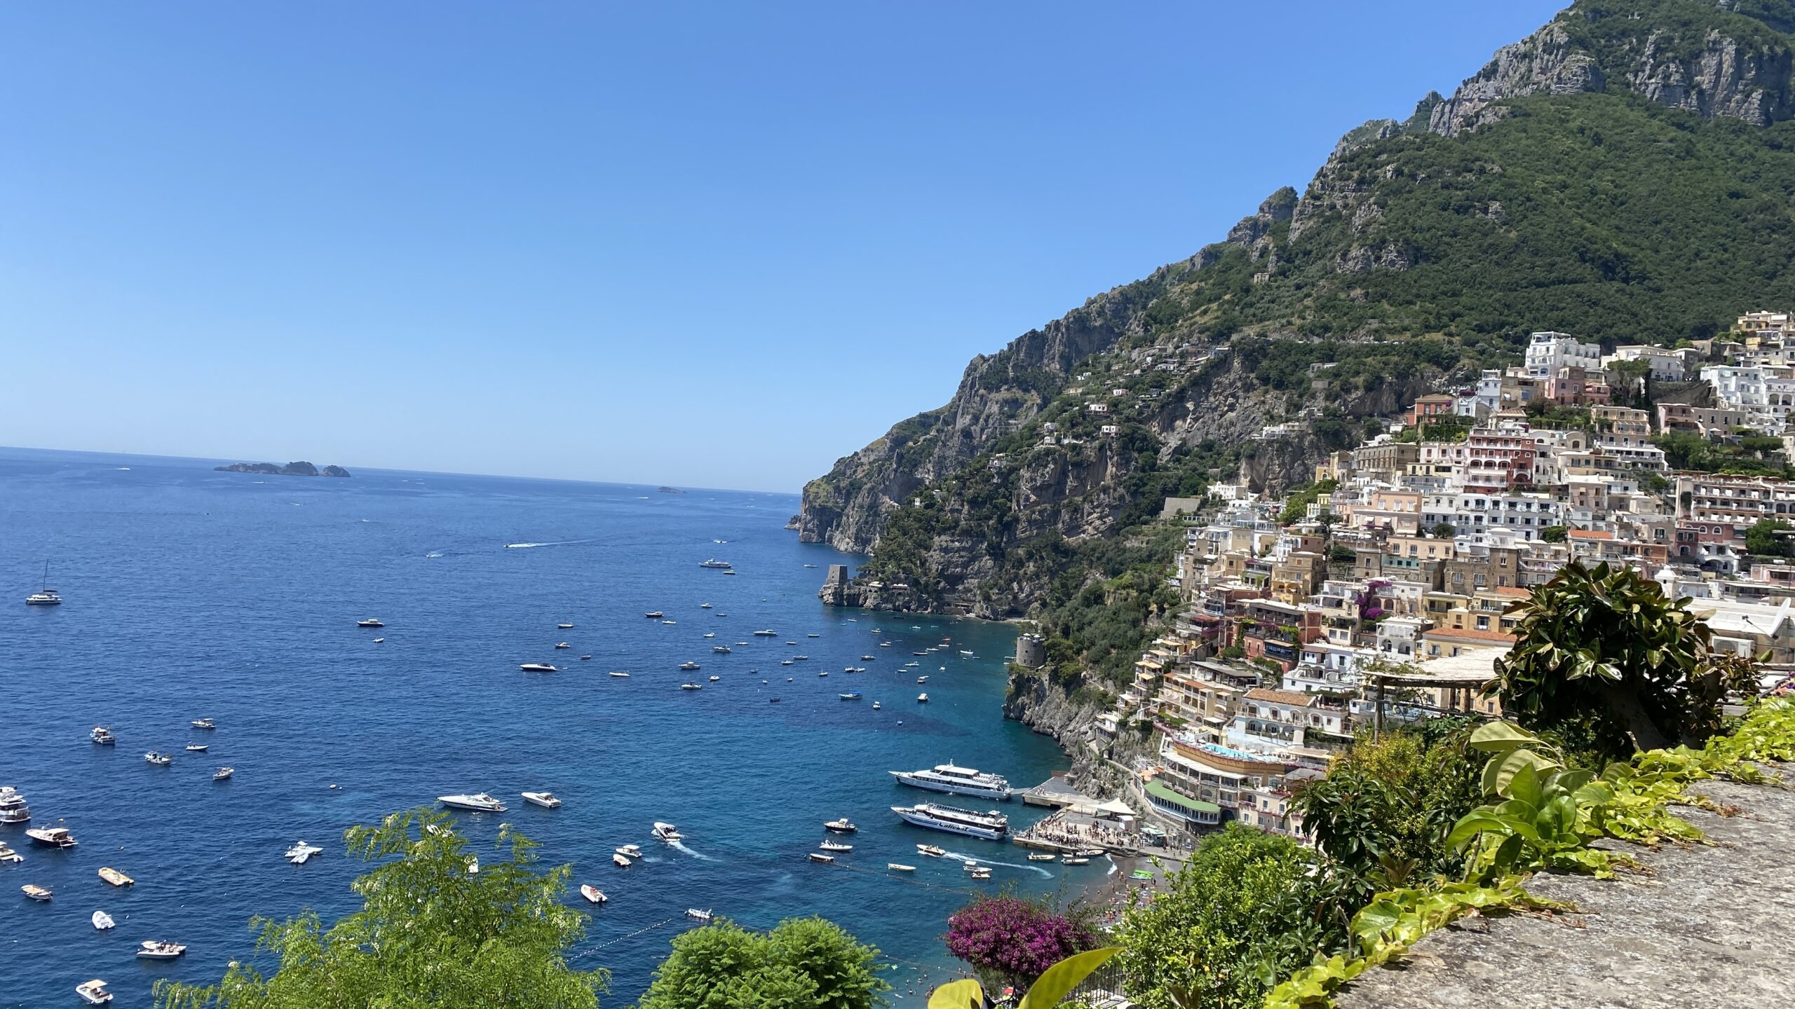
[[822, 917], [765, 935], [718, 921], [673, 939], [639, 1009], [872, 1009], [890, 991], [878, 955]]

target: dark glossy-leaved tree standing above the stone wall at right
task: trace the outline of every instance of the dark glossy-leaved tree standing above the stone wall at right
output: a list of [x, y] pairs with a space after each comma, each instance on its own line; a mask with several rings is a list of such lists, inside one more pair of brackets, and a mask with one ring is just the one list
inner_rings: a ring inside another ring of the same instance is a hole
[[1610, 756], [1702, 745], [1738, 689], [1707, 623], [1632, 567], [1572, 560], [1510, 607], [1515, 646], [1484, 693], [1524, 729], [1556, 731]]

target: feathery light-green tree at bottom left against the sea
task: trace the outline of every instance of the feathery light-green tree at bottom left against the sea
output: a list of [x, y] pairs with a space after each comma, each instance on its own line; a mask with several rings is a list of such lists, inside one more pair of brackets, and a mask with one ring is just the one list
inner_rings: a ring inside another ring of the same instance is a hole
[[535, 842], [499, 828], [503, 862], [468, 873], [467, 838], [447, 813], [393, 813], [346, 831], [348, 851], [379, 867], [355, 878], [363, 908], [328, 930], [318, 914], [258, 917], [257, 948], [280, 961], [273, 977], [232, 962], [210, 987], [156, 982], [163, 1009], [596, 1009], [609, 971], [578, 970], [567, 952], [585, 916], [564, 903], [569, 867], [540, 873]]

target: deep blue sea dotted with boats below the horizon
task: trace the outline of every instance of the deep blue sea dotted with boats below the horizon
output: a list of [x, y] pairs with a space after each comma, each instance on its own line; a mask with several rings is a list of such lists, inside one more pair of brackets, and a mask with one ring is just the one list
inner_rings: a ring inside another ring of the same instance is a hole
[[[820, 605], [827, 566], [858, 558], [783, 530], [795, 496], [212, 465], [0, 449], [0, 785], [27, 795], [32, 826], [79, 838], [48, 851], [0, 826], [25, 855], [0, 864], [0, 1005], [75, 1004], [72, 987], [101, 977], [115, 1005], [138, 1007], [156, 978], [214, 980], [257, 957], [251, 916], [355, 910], [348, 883], [364, 865], [345, 855], [345, 828], [456, 792], [512, 806], [460, 815], [481, 851], [512, 822], [544, 862], [610, 896], [574, 953], [612, 971], [605, 1005], [641, 995], [689, 907], [754, 928], [824, 914], [876, 944], [898, 1002], [921, 1005], [955, 970], [941, 935], [973, 887], [1070, 894], [1108, 869], [1043, 869], [889, 812], [930, 795], [889, 768], [953, 759], [1027, 786], [1064, 756], [1000, 715], [1012, 628]], [[700, 567], [713, 557], [738, 575]], [[65, 603], [25, 607], [45, 560]], [[679, 689], [693, 677], [704, 689]], [[865, 698], [840, 700], [849, 689]], [[201, 716], [217, 729], [190, 729]], [[118, 745], [92, 745], [93, 725]], [[172, 767], [145, 763], [153, 749]], [[219, 765], [235, 777], [214, 783]], [[565, 804], [524, 804], [524, 790]], [[1007, 812], [1014, 828], [1039, 815]], [[808, 862], [822, 820], [844, 815], [860, 824], [853, 853]], [[653, 820], [679, 824], [684, 846], [653, 842]], [[325, 853], [289, 865], [280, 855], [302, 838]], [[610, 849], [626, 842], [648, 858], [617, 869]], [[919, 842], [993, 860], [994, 880], [969, 883]], [[106, 885], [101, 865], [136, 885]], [[25, 883], [56, 898], [27, 901]], [[118, 926], [95, 932], [93, 910]], [[138, 962], [144, 939], [188, 953]]]

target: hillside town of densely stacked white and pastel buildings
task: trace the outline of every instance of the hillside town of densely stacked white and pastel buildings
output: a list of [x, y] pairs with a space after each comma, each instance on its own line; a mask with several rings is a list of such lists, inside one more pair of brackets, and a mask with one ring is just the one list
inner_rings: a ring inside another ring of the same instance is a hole
[[[1524, 364], [1416, 399], [1305, 488], [1169, 499], [1161, 519], [1185, 528], [1181, 612], [1088, 745], [1145, 729], [1136, 770], [1156, 812], [1301, 838], [1292, 786], [1357, 733], [1501, 715], [1481, 686], [1515, 643], [1508, 610], [1571, 562], [1635, 567], [1694, 600], [1716, 650], [1786, 671], [1791, 409], [1788, 312], [1612, 354], [1535, 332]], [[1023, 636], [1018, 662], [1043, 661]]]

